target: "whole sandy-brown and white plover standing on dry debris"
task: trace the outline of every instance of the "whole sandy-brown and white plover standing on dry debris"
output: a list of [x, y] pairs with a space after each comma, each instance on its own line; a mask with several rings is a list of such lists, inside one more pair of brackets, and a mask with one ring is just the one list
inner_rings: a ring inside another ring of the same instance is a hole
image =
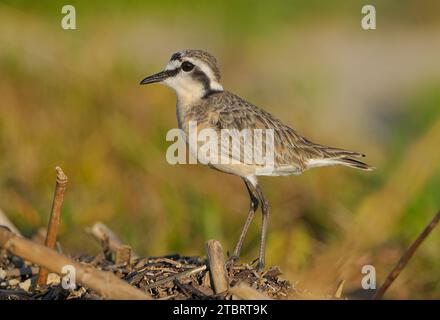
[[[261, 204], [262, 227], [257, 267], [259, 269], [264, 267], [269, 204], [258, 184], [257, 176], [298, 175], [310, 168], [331, 165], [343, 165], [361, 170], [373, 169], [356, 159], [363, 157], [363, 154], [313, 143], [270, 113], [223, 89], [217, 60], [206, 51], [176, 52], [163, 71], [146, 77], [140, 84], [156, 82], [163, 83], [176, 92], [177, 121], [186, 136], [190, 122], [196, 122], [199, 130], [211, 129], [219, 135], [224, 129], [232, 132], [243, 130], [256, 132], [261, 129], [272, 132], [273, 165], [269, 170], [267, 166], [256, 161], [243, 161], [245, 148], [241, 147], [238, 156], [234, 156], [234, 152], [231, 155], [229, 147], [220, 145], [218, 148], [222, 159], [232, 158], [231, 160], [235, 161], [207, 162], [214, 169], [241, 177], [249, 193], [250, 210], [231, 257], [232, 262], [239, 258], [244, 237]], [[240, 141], [242, 142], [243, 139]], [[196, 149], [198, 147], [199, 145]], [[252, 144], [252, 148], [258, 147]], [[259, 149], [261, 151], [264, 146]], [[192, 150], [194, 151], [197, 152]]]

